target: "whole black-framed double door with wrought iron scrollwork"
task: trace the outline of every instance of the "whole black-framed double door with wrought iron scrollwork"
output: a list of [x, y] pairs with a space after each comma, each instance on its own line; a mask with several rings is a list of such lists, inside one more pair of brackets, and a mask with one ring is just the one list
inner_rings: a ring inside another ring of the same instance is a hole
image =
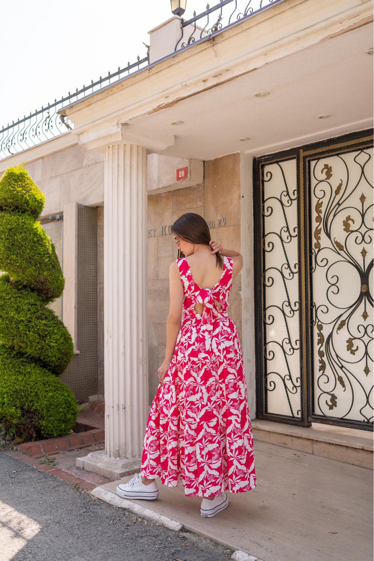
[[260, 419], [372, 430], [372, 162], [368, 131], [255, 160]]

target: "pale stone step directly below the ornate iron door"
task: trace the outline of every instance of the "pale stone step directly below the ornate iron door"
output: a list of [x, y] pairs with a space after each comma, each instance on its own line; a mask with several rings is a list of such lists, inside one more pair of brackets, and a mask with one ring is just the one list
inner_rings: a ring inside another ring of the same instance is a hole
[[312, 423], [311, 427], [252, 420], [253, 438], [308, 454], [373, 469], [373, 433]]

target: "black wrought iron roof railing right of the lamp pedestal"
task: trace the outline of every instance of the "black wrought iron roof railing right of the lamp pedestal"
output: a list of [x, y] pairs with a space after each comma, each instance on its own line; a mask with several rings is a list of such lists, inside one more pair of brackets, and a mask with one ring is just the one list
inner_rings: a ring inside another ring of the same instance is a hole
[[[197, 40], [205, 39], [219, 31], [226, 29], [230, 25], [236, 24], [239, 20], [252, 16], [254, 13], [261, 12], [265, 8], [274, 6], [283, 0], [220, 0], [215, 6], [206, 4], [205, 12], [196, 15], [190, 20], [181, 22], [181, 37], [174, 50], [184, 49]], [[197, 26], [197, 22], [199, 25]], [[204, 24], [204, 26], [203, 26]], [[186, 27], [192, 29], [186, 30]], [[185, 34], [186, 31], [186, 34]], [[200, 33], [199, 33], [200, 32]]]

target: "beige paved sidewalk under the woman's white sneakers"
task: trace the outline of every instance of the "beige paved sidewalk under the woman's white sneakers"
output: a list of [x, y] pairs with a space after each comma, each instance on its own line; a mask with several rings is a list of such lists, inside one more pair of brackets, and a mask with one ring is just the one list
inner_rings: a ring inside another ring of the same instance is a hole
[[179, 523], [176, 529], [183, 525], [264, 561], [372, 561], [372, 470], [256, 440], [255, 461], [257, 488], [230, 493], [229, 507], [210, 519], [200, 516], [201, 499], [185, 497], [182, 486], [158, 481], [154, 501], [114, 496], [118, 481], [91, 493], [151, 509]]

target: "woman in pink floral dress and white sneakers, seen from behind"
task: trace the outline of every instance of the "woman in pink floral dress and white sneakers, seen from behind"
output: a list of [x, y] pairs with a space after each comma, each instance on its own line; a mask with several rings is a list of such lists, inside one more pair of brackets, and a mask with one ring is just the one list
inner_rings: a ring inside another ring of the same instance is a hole
[[[238, 332], [227, 314], [237, 251], [210, 239], [206, 221], [186, 213], [172, 226], [184, 257], [170, 265], [165, 360], [147, 422], [141, 471], [117, 486], [120, 496], [156, 499], [156, 477], [201, 496], [200, 514], [215, 516], [228, 495], [256, 487], [246, 378]], [[183, 319], [182, 319], [183, 310]]]

